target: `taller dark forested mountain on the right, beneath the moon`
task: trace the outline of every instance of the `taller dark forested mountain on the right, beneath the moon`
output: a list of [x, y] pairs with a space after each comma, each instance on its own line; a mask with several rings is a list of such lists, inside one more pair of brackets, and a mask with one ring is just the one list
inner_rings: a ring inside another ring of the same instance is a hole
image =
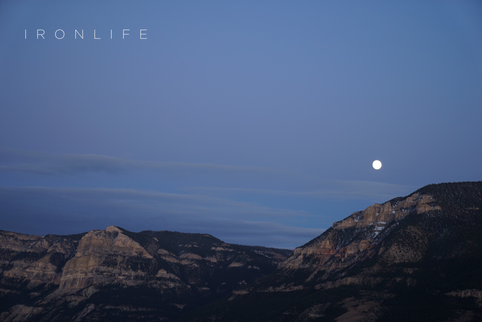
[[482, 321], [481, 208], [482, 182], [375, 203], [180, 321]]

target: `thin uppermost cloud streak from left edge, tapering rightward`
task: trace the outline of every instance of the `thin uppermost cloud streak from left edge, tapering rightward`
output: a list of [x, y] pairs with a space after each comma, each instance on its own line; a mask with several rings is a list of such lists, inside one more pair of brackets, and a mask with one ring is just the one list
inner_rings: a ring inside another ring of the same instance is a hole
[[35, 174], [63, 175], [83, 172], [119, 172], [129, 169], [200, 169], [230, 172], [276, 173], [280, 170], [214, 163], [160, 162], [129, 160], [98, 154], [67, 154], [0, 148], [0, 170]]

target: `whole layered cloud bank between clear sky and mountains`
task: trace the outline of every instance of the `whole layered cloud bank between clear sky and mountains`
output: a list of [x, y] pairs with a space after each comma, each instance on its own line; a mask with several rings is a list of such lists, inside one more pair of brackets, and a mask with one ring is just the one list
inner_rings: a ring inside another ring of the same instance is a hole
[[[135, 169], [147, 171], [124, 175]], [[26, 180], [22, 182], [30, 179], [41, 186], [132, 189], [0, 187], [0, 229], [77, 233], [117, 225], [133, 231], [206, 232], [228, 242], [285, 248], [304, 244], [359, 207], [415, 190], [381, 182], [319, 179], [263, 167], [6, 148], [0, 149], [2, 170], [48, 175], [21, 176]], [[86, 175], [89, 172], [115, 175]], [[156, 176], [155, 172], [166, 175]], [[147, 187], [167, 192], [148, 191]], [[354, 200], [358, 200], [357, 206], [351, 209]]]

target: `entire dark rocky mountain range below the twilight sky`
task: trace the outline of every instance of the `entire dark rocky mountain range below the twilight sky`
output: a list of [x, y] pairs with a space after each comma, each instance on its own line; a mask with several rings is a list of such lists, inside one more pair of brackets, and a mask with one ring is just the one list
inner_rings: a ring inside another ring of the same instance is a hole
[[0, 321], [482, 321], [482, 181], [355, 212], [294, 251], [208, 234], [0, 231]]

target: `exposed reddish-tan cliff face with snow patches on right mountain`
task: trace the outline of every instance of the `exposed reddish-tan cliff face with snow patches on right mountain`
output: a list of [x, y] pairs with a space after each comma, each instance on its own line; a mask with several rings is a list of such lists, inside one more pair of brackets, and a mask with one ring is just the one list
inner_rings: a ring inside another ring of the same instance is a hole
[[[308, 269], [308, 281], [318, 276], [325, 279], [334, 271], [371, 258], [379, 250], [375, 246], [384, 240], [398, 223], [409, 214], [441, 211], [442, 207], [430, 195], [413, 194], [405, 200], [375, 203], [363, 211], [333, 223], [332, 228], [308, 244], [295, 248], [280, 269]], [[318, 274], [322, 272], [322, 274]], [[318, 275], [317, 275], [318, 274]]]

